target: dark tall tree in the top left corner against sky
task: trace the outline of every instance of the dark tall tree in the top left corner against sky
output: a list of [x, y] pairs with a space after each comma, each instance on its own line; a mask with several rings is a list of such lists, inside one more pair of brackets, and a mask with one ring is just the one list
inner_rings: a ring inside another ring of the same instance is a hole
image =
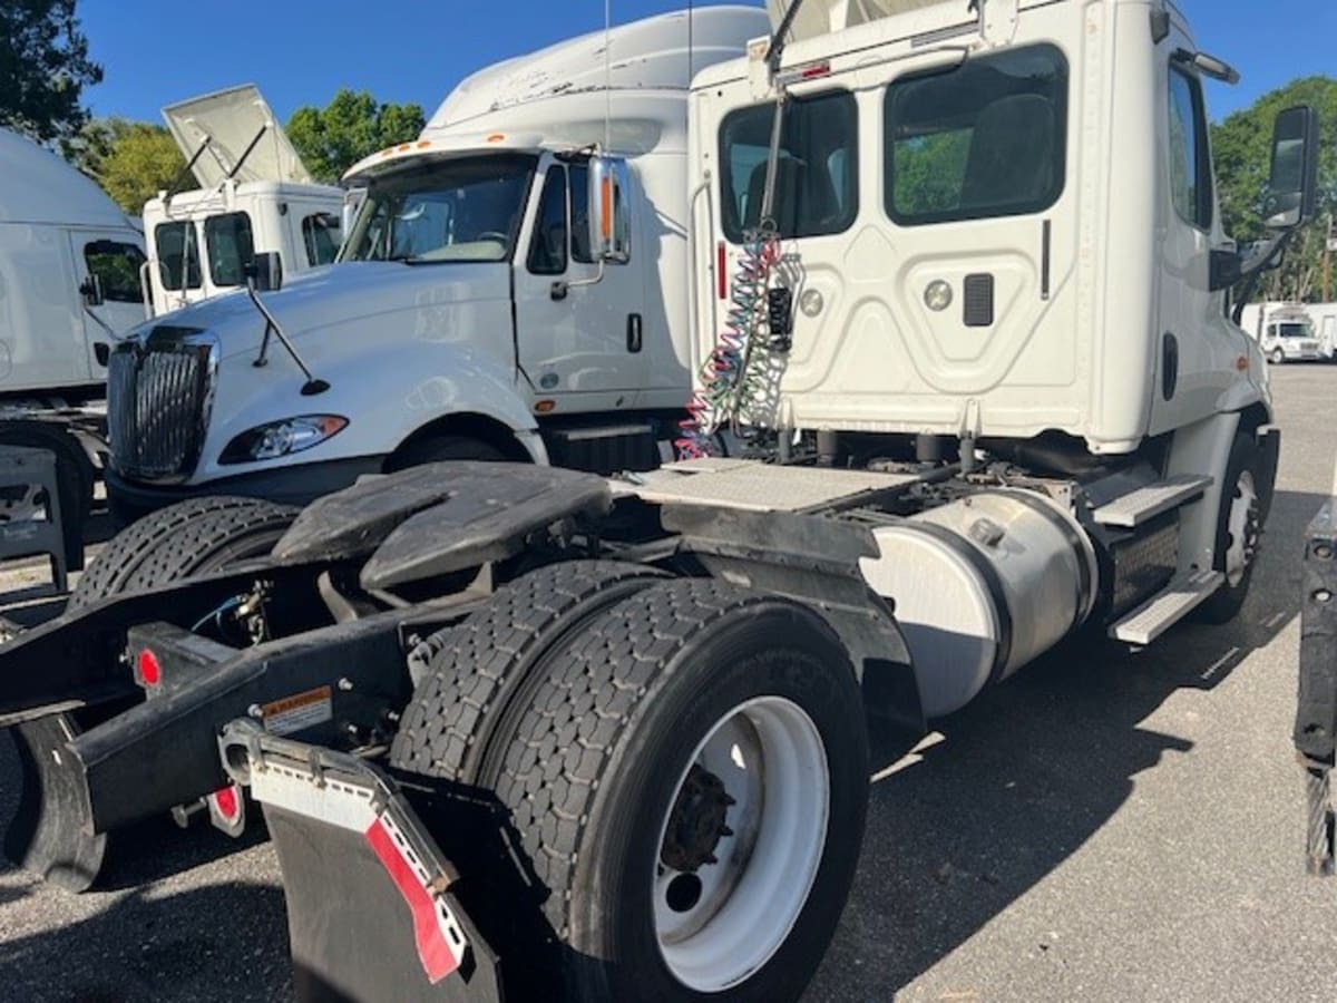
[[44, 143], [71, 136], [87, 118], [83, 88], [99, 80], [75, 0], [0, 0], [0, 126]]

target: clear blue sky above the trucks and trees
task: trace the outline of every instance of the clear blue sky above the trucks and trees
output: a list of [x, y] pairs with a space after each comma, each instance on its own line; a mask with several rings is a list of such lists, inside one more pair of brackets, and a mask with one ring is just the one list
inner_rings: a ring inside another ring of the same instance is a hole
[[[687, 3], [610, 1], [614, 23]], [[1215, 119], [1297, 76], [1337, 76], [1333, 0], [1179, 7], [1199, 48], [1243, 76], [1235, 87], [1210, 86]], [[349, 87], [421, 104], [431, 115], [475, 70], [602, 28], [603, 9], [603, 0], [80, 0], [92, 58], [106, 70], [84, 96], [95, 115], [160, 122], [163, 104], [255, 83], [286, 122], [298, 107], [324, 107]]]

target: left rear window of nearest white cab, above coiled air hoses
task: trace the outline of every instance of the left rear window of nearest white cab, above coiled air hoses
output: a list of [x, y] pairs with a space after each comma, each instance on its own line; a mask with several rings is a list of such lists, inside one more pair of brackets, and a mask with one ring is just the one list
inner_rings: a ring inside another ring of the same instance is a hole
[[[741, 243], [762, 223], [774, 104], [725, 116], [719, 127], [721, 218], [725, 235]], [[844, 91], [794, 98], [785, 106], [770, 221], [781, 237], [820, 237], [848, 230], [858, 214], [858, 122]]]

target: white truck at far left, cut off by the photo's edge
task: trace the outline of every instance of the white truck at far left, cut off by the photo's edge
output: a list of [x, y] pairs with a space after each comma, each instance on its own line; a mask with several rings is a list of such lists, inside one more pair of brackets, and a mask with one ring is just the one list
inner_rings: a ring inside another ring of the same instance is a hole
[[[94, 182], [0, 130], [0, 443], [49, 449], [71, 567], [106, 453], [106, 373], [118, 338], [144, 318], [144, 241]], [[40, 511], [32, 489], [0, 519]]]

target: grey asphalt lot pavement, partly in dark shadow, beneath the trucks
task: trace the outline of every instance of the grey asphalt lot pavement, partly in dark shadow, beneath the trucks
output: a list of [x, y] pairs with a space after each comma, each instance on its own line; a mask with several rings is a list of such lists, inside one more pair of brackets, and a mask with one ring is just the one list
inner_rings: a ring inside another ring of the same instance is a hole
[[[1281, 366], [1274, 392], [1278, 493], [1239, 619], [1068, 647], [888, 764], [806, 1000], [1337, 1000], [1337, 880], [1304, 873], [1290, 746], [1337, 366]], [[0, 825], [16, 790], [0, 740]], [[0, 863], [0, 999], [290, 998], [269, 845], [168, 820], [118, 836], [83, 896]]]

